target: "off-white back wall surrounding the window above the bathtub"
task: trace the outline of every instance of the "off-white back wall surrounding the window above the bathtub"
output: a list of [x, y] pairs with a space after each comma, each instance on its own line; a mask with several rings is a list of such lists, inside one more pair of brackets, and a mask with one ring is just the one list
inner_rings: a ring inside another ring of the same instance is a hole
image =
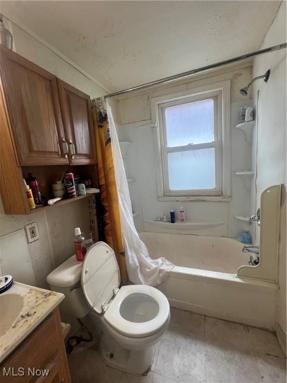
[[[171, 209], [178, 213], [179, 206], [185, 207], [188, 220], [204, 219], [224, 222], [223, 225], [208, 230], [196, 230], [197, 234], [237, 236], [242, 229], [248, 229], [246, 223], [234, 219], [233, 216], [250, 214], [250, 191], [247, 191], [242, 179], [234, 173], [251, 168], [251, 145], [245, 141], [243, 132], [235, 128], [235, 125], [240, 122], [240, 107], [252, 102], [251, 94], [244, 97], [239, 92], [251, 80], [251, 74], [251, 63], [243, 63], [237, 67], [208, 72], [188, 81], [178, 81], [172, 85], [145, 91], [140, 95], [119, 99], [121, 123], [118, 127], [119, 138], [122, 141], [132, 142], [124, 162], [128, 178], [136, 180], [130, 183], [129, 187], [134, 211], [139, 213], [135, 217], [138, 230], [143, 230], [143, 221], [154, 220], [155, 217], [162, 216], [164, 212], [168, 214]], [[146, 126], [151, 122], [150, 98], [224, 80], [231, 80], [232, 200], [230, 202], [158, 201], [155, 168], [156, 138], [154, 128]]]

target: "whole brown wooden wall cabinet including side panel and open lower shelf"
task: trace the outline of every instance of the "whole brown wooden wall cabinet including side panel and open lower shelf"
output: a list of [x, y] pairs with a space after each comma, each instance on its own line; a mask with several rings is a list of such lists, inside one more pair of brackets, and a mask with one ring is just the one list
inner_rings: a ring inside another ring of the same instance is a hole
[[[29, 214], [23, 177], [51, 184], [65, 170], [97, 187], [90, 97], [0, 45], [0, 192], [6, 214]], [[80, 169], [81, 168], [81, 169]]]

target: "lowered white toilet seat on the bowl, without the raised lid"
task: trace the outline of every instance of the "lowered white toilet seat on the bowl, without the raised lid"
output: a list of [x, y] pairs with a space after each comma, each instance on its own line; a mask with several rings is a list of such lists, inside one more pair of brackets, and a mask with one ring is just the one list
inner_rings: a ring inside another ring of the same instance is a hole
[[[135, 309], [137, 313], [133, 311]], [[133, 316], [137, 316], [136, 321], [129, 320]], [[144, 321], [140, 322], [142, 316]], [[104, 314], [104, 320], [114, 330], [131, 338], [143, 338], [158, 332], [168, 319], [168, 300], [159, 290], [146, 285], [123, 286]]]

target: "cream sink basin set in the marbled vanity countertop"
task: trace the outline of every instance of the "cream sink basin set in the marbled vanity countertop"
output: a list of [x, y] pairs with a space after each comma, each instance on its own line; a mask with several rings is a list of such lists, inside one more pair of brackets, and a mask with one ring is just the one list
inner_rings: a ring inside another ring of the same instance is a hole
[[18, 294], [0, 295], [0, 336], [12, 325], [23, 307], [23, 298]]

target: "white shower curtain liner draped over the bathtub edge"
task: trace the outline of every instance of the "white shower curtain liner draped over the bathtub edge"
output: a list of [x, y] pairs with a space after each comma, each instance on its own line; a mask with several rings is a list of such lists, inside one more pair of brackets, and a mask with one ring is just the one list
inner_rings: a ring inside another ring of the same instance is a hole
[[109, 105], [107, 105], [107, 111], [111, 128], [122, 233], [125, 245], [125, 259], [129, 279], [136, 284], [158, 286], [168, 277], [174, 265], [163, 257], [151, 259], [145, 244], [139, 237], [134, 224], [128, 181], [120, 151], [116, 126]]

